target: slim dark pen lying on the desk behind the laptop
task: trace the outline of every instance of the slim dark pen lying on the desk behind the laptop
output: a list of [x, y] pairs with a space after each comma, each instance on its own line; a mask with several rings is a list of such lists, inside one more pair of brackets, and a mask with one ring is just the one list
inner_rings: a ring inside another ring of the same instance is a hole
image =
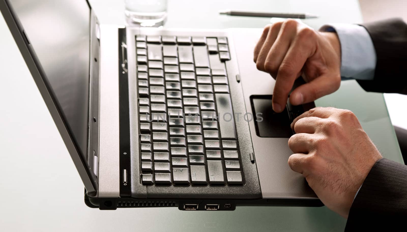
[[293, 18], [293, 19], [310, 19], [317, 18], [317, 15], [309, 13], [271, 13], [271, 12], [258, 12], [258, 11], [232, 11], [232, 10], [222, 10], [219, 11], [221, 15], [232, 15], [232, 16], [248, 16], [248, 17], [276, 17], [276, 18]]

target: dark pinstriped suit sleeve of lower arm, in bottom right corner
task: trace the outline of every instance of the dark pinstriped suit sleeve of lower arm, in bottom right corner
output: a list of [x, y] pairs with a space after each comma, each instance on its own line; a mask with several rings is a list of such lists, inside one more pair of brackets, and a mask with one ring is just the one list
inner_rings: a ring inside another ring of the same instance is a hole
[[406, 221], [407, 166], [378, 160], [353, 201], [345, 231], [405, 231]]

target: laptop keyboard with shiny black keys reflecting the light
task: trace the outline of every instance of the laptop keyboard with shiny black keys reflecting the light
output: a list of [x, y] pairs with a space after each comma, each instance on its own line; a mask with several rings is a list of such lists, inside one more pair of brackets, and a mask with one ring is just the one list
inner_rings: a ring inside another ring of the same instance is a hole
[[228, 39], [137, 35], [136, 53], [142, 184], [243, 184]]

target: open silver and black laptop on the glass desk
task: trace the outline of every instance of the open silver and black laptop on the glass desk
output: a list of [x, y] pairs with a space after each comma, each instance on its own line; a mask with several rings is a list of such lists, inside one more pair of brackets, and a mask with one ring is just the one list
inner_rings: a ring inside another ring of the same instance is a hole
[[105, 25], [86, 0], [0, 10], [88, 206], [322, 206], [287, 164], [289, 125], [314, 104], [272, 111], [275, 81], [252, 58], [260, 29]]

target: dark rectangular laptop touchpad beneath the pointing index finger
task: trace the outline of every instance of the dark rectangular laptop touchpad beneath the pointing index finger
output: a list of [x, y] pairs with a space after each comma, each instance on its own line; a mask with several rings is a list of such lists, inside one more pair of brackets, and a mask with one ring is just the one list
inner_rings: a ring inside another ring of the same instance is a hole
[[287, 107], [281, 113], [274, 112], [271, 106], [271, 95], [252, 96], [251, 103], [256, 134], [259, 137], [289, 138], [293, 135], [290, 127], [292, 120]]

